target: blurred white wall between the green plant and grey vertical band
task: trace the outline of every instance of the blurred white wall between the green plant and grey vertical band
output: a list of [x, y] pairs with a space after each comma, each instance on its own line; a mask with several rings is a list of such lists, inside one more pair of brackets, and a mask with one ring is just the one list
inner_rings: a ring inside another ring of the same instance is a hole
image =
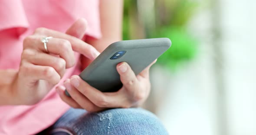
[[152, 93], [161, 93], [156, 114], [171, 135], [218, 135], [211, 10], [202, 8], [189, 29], [201, 40], [197, 58], [173, 74], [152, 69]]

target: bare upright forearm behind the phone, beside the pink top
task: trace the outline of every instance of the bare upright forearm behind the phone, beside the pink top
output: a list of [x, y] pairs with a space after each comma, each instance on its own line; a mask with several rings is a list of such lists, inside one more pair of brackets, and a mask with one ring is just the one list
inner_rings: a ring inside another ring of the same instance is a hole
[[[85, 42], [102, 52], [111, 43], [122, 39], [123, 0], [101, 0], [99, 10], [102, 38], [88, 37]], [[82, 57], [82, 68], [90, 63], [88, 58]]]

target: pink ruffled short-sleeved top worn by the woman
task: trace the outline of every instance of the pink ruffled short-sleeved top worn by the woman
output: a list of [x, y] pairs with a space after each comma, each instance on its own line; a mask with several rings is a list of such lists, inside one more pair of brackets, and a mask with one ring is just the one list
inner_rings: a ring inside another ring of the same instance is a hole
[[[23, 39], [37, 27], [65, 32], [83, 17], [88, 21], [86, 34], [100, 38], [98, 6], [98, 0], [0, 0], [0, 69], [19, 69]], [[75, 56], [78, 61], [79, 54]], [[79, 74], [78, 67], [68, 69], [59, 84]], [[34, 106], [0, 106], [0, 135], [36, 134], [68, 109], [55, 90]]]

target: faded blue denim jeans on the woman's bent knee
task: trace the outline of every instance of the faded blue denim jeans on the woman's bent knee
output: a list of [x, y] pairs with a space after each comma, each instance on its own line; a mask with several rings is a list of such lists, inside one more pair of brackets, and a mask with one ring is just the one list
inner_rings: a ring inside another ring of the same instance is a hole
[[69, 109], [38, 135], [168, 135], [159, 119], [141, 108], [109, 109], [88, 113]]

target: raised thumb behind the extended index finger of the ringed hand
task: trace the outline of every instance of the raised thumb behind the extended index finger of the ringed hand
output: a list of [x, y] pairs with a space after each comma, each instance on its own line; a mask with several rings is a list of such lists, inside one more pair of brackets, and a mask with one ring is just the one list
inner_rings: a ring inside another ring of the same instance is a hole
[[80, 18], [76, 20], [72, 26], [69, 27], [69, 29], [66, 31], [66, 34], [72, 35], [78, 39], [82, 39], [82, 37], [85, 35], [86, 28], [87, 21], [83, 18]]

